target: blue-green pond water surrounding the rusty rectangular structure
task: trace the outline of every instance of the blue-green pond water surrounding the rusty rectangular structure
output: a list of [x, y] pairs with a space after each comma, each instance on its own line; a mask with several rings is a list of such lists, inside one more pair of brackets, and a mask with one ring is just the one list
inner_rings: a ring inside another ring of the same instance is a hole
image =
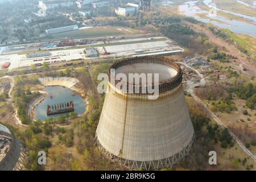
[[61, 114], [47, 116], [47, 105], [60, 104], [70, 101], [73, 101], [75, 113], [83, 114], [85, 112], [86, 101], [79, 96], [79, 94], [72, 96], [71, 89], [63, 86], [47, 86], [45, 89], [43, 89], [43, 91], [47, 92], [48, 94], [40, 104], [35, 106], [35, 119], [41, 119], [43, 121], [51, 117], [59, 118]]

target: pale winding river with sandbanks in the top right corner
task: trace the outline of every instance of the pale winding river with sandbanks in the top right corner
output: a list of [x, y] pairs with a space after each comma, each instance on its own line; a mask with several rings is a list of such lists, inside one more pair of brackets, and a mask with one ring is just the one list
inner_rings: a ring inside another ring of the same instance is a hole
[[[193, 18], [200, 20], [204, 23], [211, 23], [214, 26], [218, 26], [220, 28], [228, 28], [229, 30], [236, 32], [238, 34], [246, 34], [250, 36], [254, 36], [256, 38], [256, 18], [254, 16], [247, 16], [243, 14], [233, 13], [232, 11], [220, 10], [217, 7], [213, 7], [213, 9], [224, 11], [226, 13], [232, 13], [237, 16], [241, 16], [242, 18], [246, 18], [250, 20], [252, 23], [242, 22], [240, 20], [230, 20], [221, 15], [211, 15], [208, 14], [208, 11], [200, 9], [197, 6], [198, 1], [188, 1], [183, 3], [183, 5], [179, 6], [179, 11], [186, 16], [192, 16]], [[211, 6], [211, 0], [205, 0], [204, 3], [207, 6]], [[206, 18], [201, 18], [199, 14], [206, 14]]]

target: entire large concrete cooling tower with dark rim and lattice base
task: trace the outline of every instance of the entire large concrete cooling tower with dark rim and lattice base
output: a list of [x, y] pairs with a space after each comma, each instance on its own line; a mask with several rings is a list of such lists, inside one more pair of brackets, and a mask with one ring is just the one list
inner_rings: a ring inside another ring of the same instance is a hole
[[[173, 166], [191, 151], [195, 140], [182, 87], [179, 65], [160, 57], [134, 57], [112, 65], [115, 74], [159, 73], [159, 97], [123, 92], [109, 76], [108, 89], [96, 130], [101, 154], [129, 169]], [[129, 88], [129, 82], [126, 82]], [[147, 83], [148, 84], [148, 83]], [[156, 85], [156, 84], [154, 84]]]

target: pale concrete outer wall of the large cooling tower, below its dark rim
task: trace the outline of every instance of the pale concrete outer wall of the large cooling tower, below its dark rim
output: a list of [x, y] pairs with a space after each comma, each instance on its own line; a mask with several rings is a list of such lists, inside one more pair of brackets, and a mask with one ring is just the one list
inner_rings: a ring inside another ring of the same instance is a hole
[[106, 151], [145, 162], [178, 154], [191, 144], [193, 134], [181, 85], [158, 100], [106, 94], [96, 131]]

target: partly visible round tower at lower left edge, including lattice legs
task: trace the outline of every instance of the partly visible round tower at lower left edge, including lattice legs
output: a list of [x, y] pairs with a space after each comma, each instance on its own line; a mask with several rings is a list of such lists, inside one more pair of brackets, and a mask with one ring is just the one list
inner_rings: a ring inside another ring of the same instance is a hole
[[[24, 166], [24, 153], [19, 140], [6, 126], [0, 125], [0, 142], [10, 142], [5, 156], [0, 160], [0, 171], [21, 170]], [[2, 148], [2, 147], [1, 147]]]

